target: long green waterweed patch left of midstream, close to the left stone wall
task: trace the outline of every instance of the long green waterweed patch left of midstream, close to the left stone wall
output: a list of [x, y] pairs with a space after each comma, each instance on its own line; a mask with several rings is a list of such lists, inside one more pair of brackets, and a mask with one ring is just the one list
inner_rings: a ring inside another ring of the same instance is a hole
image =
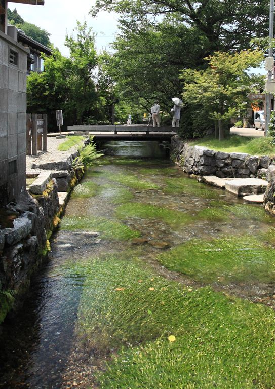
[[101, 232], [101, 238], [129, 240], [140, 236], [139, 231], [134, 231], [128, 226], [117, 221], [95, 216], [69, 216], [61, 220], [60, 228], [70, 231], [89, 230]]

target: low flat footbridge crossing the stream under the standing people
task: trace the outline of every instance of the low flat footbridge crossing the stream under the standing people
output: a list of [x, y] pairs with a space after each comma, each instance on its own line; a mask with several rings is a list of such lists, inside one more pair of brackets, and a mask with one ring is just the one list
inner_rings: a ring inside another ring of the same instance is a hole
[[[94, 140], [168, 140], [176, 135], [172, 126], [147, 125], [74, 125], [68, 126], [68, 135], [93, 135]], [[63, 133], [64, 134], [64, 133]]]

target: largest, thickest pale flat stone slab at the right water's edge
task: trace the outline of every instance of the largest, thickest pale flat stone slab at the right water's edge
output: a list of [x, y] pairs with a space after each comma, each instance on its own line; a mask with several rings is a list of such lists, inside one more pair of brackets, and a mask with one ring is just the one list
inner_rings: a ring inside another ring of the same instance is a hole
[[268, 182], [261, 178], [238, 178], [225, 182], [225, 189], [239, 197], [264, 193]]

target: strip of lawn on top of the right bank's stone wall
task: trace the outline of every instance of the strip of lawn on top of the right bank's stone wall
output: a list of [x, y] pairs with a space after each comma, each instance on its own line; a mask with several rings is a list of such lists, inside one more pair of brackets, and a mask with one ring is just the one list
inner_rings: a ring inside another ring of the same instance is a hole
[[206, 146], [211, 150], [224, 152], [244, 152], [252, 155], [274, 155], [275, 147], [271, 137], [246, 137], [230, 135], [230, 137], [219, 141], [212, 137], [197, 139], [189, 143], [191, 146]]

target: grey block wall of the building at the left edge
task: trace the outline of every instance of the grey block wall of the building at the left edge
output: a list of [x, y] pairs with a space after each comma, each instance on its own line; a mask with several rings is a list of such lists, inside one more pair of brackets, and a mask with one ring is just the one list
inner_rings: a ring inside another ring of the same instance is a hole
[[26, 189], [27, 53], [0, 31], [0, 206]]

